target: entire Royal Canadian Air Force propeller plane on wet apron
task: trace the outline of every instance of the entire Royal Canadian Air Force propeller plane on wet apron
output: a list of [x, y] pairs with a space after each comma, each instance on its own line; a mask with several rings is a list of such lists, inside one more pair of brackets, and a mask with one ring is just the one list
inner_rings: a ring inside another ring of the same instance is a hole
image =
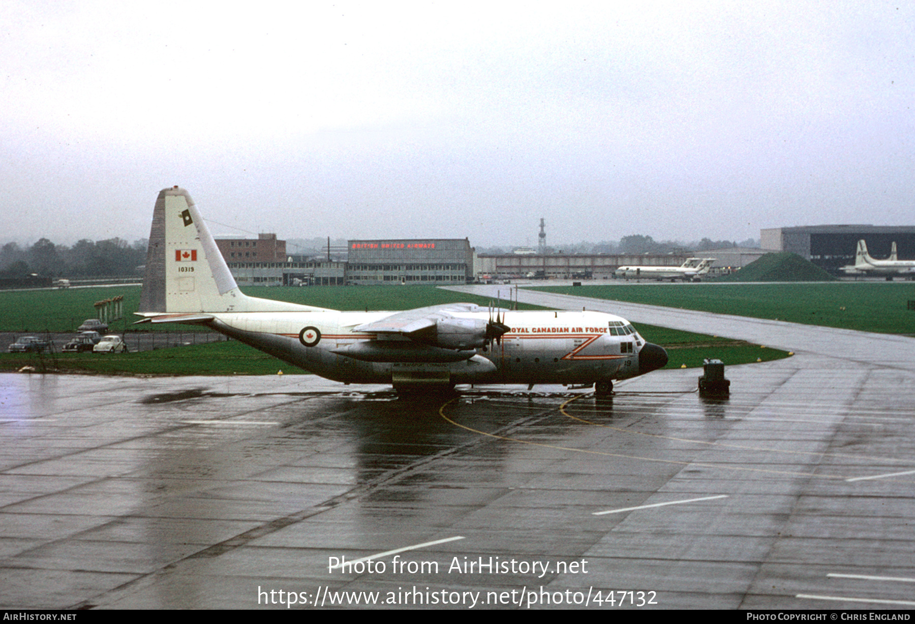
[[[409, 287], [409, 286], [404, 286]], [[561, 383], [608, 395], [615, 380], [662, 368], [667, 353], [624, 318], [458, 303], [341, 312], [246, 296], [183, 188], [156, 199], [139, 323], [213, 328], [321, 377], [398, 391], [457, 383]]]

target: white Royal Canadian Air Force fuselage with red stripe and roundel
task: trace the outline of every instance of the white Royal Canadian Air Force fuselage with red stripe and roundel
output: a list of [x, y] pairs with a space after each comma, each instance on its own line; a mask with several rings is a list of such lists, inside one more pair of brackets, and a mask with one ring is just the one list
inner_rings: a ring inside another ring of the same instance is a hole
[[[440, 373], [451, 383], [593, 383], [660, 368], [658, 361], [649, 361], [648, 352], [640, 362], [646, 343], [627, 321], [599, 312], [509, 311], [505, 323], [511, 329], [499, 341], [463, 351], [353, 329], [391, 314], [220, 313], [213, 315], [210, 326], [339, 382], [390, 383], [397, 374]], [[488, 317], [486, 313], [455, 316], [484, 322]], [[374, 348], [379, 344], [384, 346]], [[392, 349], [397, 346], [403, 349]]]

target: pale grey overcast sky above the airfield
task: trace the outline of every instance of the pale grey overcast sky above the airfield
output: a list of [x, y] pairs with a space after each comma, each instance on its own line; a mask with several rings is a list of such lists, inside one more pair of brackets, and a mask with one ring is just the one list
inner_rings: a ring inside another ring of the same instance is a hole
[[915, 223], [915, 4], [0, 3], [0, 241]]

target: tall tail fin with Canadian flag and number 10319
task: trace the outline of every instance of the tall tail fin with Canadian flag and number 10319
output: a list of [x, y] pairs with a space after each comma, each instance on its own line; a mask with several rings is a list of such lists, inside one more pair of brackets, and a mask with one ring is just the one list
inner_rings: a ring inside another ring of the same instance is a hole
[[303, 309], [321, 308], [244, 295], [188, 191], [172, 187], [159, 192], [149, 232], [140, 316]]

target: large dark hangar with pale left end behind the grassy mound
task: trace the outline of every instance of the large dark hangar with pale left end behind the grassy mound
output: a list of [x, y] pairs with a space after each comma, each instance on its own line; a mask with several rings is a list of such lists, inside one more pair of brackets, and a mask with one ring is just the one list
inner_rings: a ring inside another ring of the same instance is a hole
[[838, 273], [839, 267], [855, 264], [857, 242], [867, 242], [867, 252], [878, 260], [888, 257], [893, 242], [899, 260], [915, 259], [915, 226], [807, 225], [760, 230], [764, 250], [793, 252], [813, 264]]

